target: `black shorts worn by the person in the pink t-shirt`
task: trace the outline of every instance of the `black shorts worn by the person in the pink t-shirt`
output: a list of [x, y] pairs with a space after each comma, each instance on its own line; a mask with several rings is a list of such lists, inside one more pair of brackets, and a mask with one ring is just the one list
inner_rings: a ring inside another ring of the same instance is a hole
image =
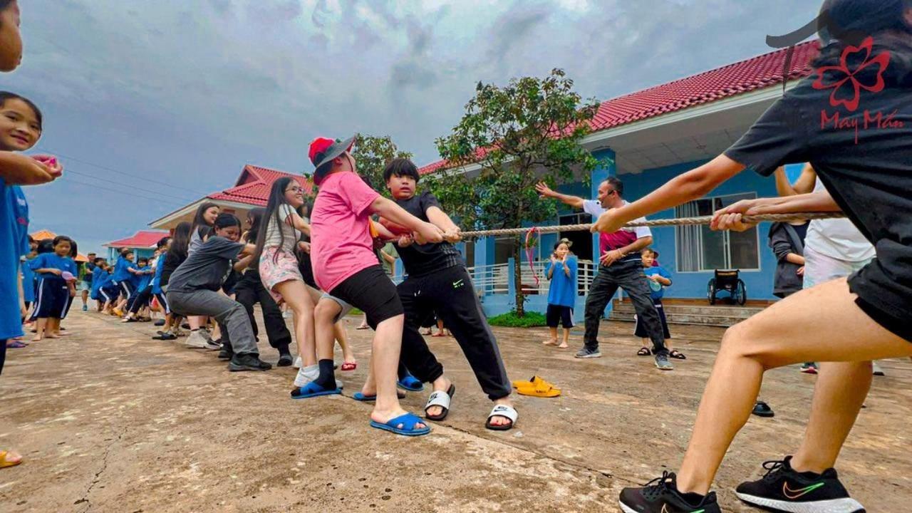
[[368, 316], [368, 326], [374, 330], [384, 320], [405, 313], [396, 286], [379, 264], [347, 277], [329, 295], [363, 311]]

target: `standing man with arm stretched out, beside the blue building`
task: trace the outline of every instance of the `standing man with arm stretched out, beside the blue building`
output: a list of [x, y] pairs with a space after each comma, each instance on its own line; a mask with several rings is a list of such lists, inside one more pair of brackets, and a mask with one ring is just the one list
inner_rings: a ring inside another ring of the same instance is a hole
[[[616, 177], [608, 178], [598, 185], [598, 199], [583, 198], [554, 192], [545, 183], [535, 185], [542, 197], [560, 200], [574, 208], [583, 209], [586, 214], [596, 219], [610, 208], [619, 208], [627, 204], [624, 201], [624, 183]], [[640, 221], [641, 219], [637, 219]], [[649, 298], [648, 278], [643, 274], [640, 250], [652, 244], [652, 233], [648, 227], [622, 229], [613, 234], [601, 234], [599, 237], [598, 274], [589, 286], [586, 297], [586, 335], [583, 338], [583, 349], [576, 353], [576, 358], [599, 358], [598, 323], [608, 302], [623, 288], [630, 297], [637, 319], [643, 323], [649, 339], [652, 340], [652, 352], [656, 355], [656, 367], [662, 371], [671, 371], [674, 367], [668, 361], [668, 349], [665, 347], [665, 335], [662, 323], [652, 300]]]

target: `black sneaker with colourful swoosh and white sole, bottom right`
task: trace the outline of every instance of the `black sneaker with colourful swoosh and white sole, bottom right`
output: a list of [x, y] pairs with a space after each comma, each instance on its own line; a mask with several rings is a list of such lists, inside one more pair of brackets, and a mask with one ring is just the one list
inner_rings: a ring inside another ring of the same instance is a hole
[[759, 481], [741, 483], [735, 495], [751, 506], [784, 513], [865, 513], [865, 508], [845, 490], [833, 468], [823, 474], [795, 472], [790, 462], [763, 464], [766, 475]]

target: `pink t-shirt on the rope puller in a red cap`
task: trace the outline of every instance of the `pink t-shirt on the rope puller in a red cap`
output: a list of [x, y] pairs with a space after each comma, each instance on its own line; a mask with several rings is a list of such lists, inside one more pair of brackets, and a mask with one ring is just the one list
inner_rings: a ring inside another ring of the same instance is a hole
[[379, 265], [368, 210], [379, 195], [356, 173], [333, 173], [320, 183], [310, 215], [310, 259], [316, 284], [326, 292]]

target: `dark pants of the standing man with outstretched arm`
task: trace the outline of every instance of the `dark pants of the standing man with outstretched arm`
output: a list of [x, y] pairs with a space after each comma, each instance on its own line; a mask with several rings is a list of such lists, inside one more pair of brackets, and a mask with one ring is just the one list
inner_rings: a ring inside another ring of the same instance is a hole
[[658, 319], [656, 306], [652, 304], [647, 280], [639, 259], [598, 267], [598, 274], [592, 280], [589, 295], [586, 296], [586, 335], [583, 337], [586, 348], [591, 351], [598, 349], [598, 323], [617, 288], [623, 288], [630, 297], [633, 308], [637, 310], [637, 321], [642, 323], [652, 340], [652, 351], [668, 354], [662, 322]]

